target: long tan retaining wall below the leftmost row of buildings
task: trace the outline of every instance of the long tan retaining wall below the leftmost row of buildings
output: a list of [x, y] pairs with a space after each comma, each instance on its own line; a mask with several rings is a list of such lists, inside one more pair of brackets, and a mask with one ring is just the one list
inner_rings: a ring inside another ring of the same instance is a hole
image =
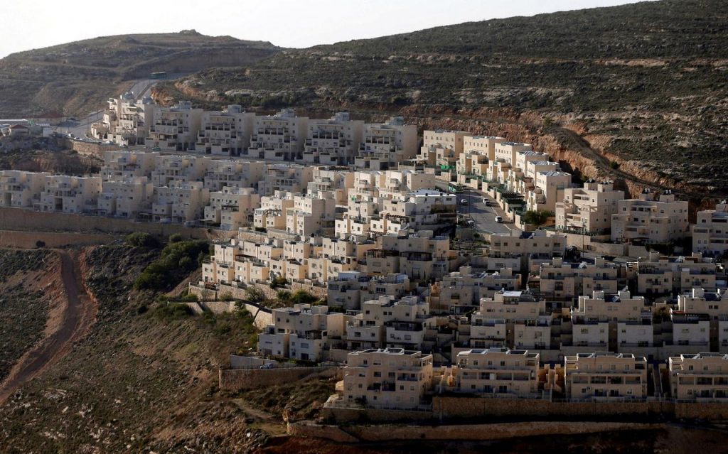
[[143, 231], [158, 236], [181, 234], [206, 239], [205, 228], [190, 228], [179, 224], [135, 223], [127, 219], [71, 213], [39, 212], [25, 208], [0, 207], [0, 226], [20, 231], [73, 231], [110, 234], [128, 234]]

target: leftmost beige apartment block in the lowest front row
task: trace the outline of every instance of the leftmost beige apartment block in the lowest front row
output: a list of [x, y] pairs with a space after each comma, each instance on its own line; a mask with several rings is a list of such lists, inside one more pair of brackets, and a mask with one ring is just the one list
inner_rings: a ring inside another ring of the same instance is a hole
[[405, 349], [352, 351], [344, 367], [341, 402], [416, 409], [432, 386], [432, 355]]

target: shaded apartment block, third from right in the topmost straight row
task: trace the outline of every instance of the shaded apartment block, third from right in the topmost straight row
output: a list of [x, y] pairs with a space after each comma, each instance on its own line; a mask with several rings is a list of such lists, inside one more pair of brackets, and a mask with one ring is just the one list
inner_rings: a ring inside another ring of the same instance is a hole
[[308, 117], [296, 116], [293, 109], [256, 116], [250, 147], [243, 154], [266, 160], [301, 160], [308, 124]]

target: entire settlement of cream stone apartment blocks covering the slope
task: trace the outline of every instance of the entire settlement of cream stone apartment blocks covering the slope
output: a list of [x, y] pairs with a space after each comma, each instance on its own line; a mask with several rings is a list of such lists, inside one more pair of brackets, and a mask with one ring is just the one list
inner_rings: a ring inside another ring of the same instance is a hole
[[[572, 183], [527, 143], [448, 130], [420, 141], [400, 117], [123, 95], [92, 132], [132, 148], [104, 152], [98, 175], [0, 171], [0, 205], [227, 231], [190, 291], [325, 295], [272, 310], [257, 351], [346, 363], [327, 405], [646, 399], [653, 370], [669, 376], [663, 394], [726, 397], [705, 372], [728, 355], [725, 203], [691, 226], [670, 191], [627, 199], [612, 182]], [[527, 225], [527, 211], [555, 228]]]

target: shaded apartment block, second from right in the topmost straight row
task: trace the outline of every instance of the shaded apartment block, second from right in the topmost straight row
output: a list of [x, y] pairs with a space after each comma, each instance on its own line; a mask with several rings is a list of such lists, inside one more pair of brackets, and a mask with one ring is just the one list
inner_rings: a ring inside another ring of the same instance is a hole
[[301, 161], [306, 164], [353, 164], [363, 131], [363, 120], [350, 119], [348, 112], [337, 112], [331, 119], [310, 119]]

